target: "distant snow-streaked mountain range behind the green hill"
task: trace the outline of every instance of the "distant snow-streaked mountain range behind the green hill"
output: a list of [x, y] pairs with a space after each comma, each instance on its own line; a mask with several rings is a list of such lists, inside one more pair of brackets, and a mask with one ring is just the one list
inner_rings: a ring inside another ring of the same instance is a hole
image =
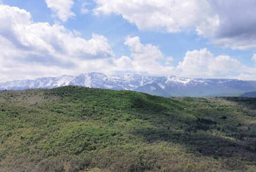
[[170, 96], [239, 96], [255, 91], [256, 81], [232, 79], [192, 79], [176, 76], [142, 76], [139, 74], [86, 73], [79, 76], [63, 75], [36, 80], [17, 80], [0, 83], [0, 90], [56, 88], [79, 85], [112, 90], [134, 90], [164, 97]]

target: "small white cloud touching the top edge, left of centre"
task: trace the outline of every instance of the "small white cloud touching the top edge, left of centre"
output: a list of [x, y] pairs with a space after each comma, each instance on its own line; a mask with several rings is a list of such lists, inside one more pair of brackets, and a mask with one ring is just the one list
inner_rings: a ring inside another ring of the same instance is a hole
[[45, 0], [47, 7], [50, 8], [54, 15], [60, 18], [63, 22], [70, 17], [75, 17], [75, 13], [71, 11], [74, 4], [72, 0]]

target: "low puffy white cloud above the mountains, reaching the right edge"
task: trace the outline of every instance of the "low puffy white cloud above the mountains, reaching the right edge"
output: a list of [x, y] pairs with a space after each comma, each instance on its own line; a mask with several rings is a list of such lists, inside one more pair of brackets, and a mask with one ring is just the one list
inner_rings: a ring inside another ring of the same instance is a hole
[[245, 66], [230, 56], [215, 57], [206, 48], [187, 51], [184, 60], [175, 68], [175, 74], [198, 78], [256, 80], [255, 67]]

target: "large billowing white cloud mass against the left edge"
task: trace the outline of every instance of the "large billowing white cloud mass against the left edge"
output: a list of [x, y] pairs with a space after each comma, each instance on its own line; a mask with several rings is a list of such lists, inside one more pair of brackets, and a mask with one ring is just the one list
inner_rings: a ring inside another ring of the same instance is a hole
[[59, 24], [33, 22], [18, 7], [0, 5], [0, 72], [11, 79], [108, 71], [114, 53], [106, 37], [85, 40]]

